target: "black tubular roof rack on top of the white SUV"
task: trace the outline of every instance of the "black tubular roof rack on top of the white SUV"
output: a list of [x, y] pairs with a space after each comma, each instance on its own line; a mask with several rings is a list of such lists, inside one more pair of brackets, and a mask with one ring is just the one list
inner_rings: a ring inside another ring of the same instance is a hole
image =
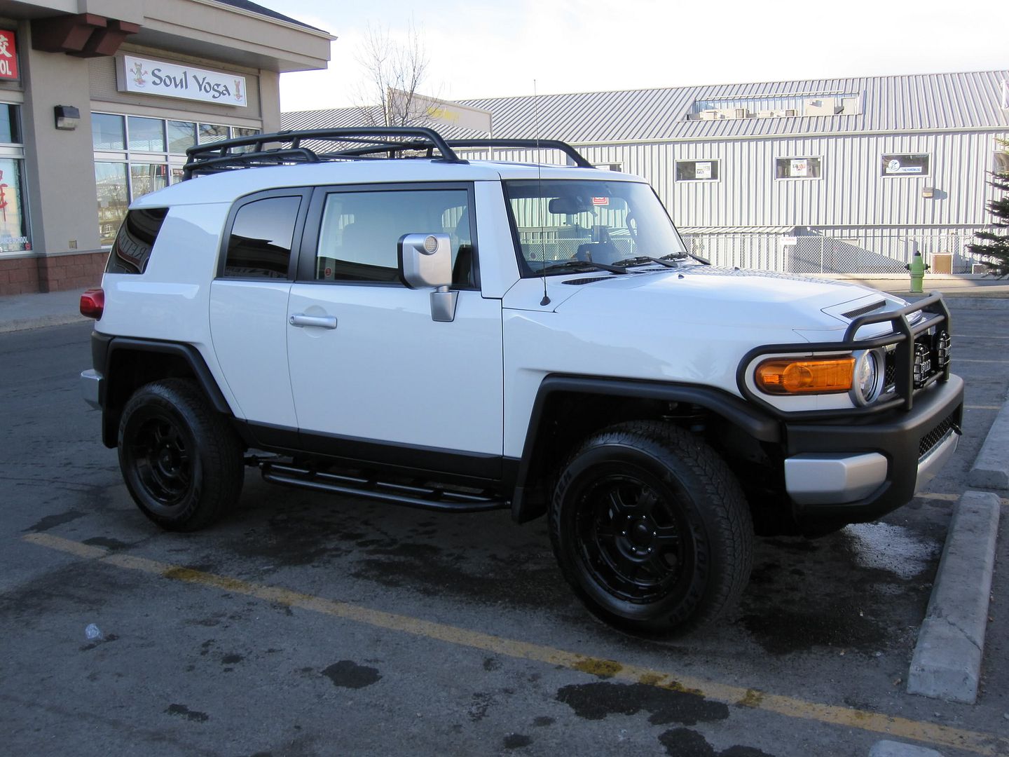
[[[332, 142], [335, 149], [320, 149], [320, 143]], [[305, 142], [311, 142], [307, 146]], [[355, 146], [346, 146], [346, 145]], [[279, 146], [277, 146], [279, 145]], [[395, 158], [400, 153], [424, 152], [435, 157], [438, 151], [446, 163], [465, 164], [453, 147], [533, 147], [558, 149], [583, 169], [593, 168], [578, 150], [557, 139], [449, 139], [424, 126], [368, 126], [332, 129], [298, 129], [253, 134], [235, 139], [200, 144], [186, 150], [189, 157], [183, 178], [217, 174], [235, 169], [284, 166], [325, 160], [376, 159], [384, 153]]]

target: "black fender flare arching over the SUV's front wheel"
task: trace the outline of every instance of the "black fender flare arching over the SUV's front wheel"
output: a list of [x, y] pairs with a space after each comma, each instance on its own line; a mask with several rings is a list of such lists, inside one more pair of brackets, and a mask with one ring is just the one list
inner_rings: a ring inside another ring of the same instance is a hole
[[534, 502], [530, 493], [543, 472], [539, 461], [544, 455], [539, 445], [546, 443], [540, 433], [544, 413], [550, 399], [560, 393], [690, 403], [724, 418], [758, 441], [779, 443], [784, 439], [779, 419], [753, 403], [713, 387], [607, 376], [549, 374], [544, 377], [537, 391], [526, 430], [522, 458], [516, 471], [512, 517], [518, 523], [532, 520], [543, 512], [542, 502]]

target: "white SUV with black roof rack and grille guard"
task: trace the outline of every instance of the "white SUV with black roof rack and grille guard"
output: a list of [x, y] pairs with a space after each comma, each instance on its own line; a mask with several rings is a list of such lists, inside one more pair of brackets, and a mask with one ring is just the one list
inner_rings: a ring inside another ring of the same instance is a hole
[[[573, 165], [456, 152], [491, 145]], [[939, 296], [711, 266], [643, 180], [561, 142], [328, 129], [190, 153], [199, 178], [133, 203], [82, 298], [85, 396], [164, 528], [225, 513], [243, 464], [546, 514], [592, 612], [666, 633], [736, 602], [755, 529], [878, 518], [957, 447]]]

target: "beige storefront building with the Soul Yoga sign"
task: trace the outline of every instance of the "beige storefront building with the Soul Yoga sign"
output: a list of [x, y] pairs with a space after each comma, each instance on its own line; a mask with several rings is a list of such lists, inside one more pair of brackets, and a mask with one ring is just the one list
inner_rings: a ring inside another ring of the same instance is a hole
[[0, 295], [96, 286], [132, 199], [279, 128], [332, 39], [246, 0], [0, 0]]

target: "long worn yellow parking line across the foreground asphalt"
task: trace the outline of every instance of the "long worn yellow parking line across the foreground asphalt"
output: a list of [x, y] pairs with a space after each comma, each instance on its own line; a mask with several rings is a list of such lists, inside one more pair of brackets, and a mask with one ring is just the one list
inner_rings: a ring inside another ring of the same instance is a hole
[[371, 610], [322, 597], [292, 591], [279, 586], [230, 578], [224, 575], [205, 573], [202, 570], [173, 565], [157, 560], [128, 554], [110, 552], [102, 547], [92, 547], [81, 542], [63, 539], [49, 534], [28, 534], [25, 541], [40, 547], [68, 552], [86, 559], [114, 565], [127, 570], [138, 570], [162, 578], [183, 581], [200, 586], [221, 588], [226, 591], [253, 597], [263, 602], [275, 603], [292, 608], [301, 608], [363, 623], [376, 628], [399, 631], [427, 639], [436, 639], [449, 644], [479, 649], [493, 654], [521, 660], [532, 660], [549, 665], [560, 665], [593, 675], [601, 675], [633, 683], [667, 688], [675, 691], [695, 693], [707, 698], [739, 705], [754, 710], [776, 713], [788, 718], [817, 721], [845, 728], [857, 728], [873, 733], [887, 734], [899, 739], [924, 742], [926, 744], [952, 747], [980, 755], [1009, 754], [1009, 739], [993, 734], [966, 731], [933, 723], [896, 718], [866, 710], [834, 707], [814, 701], [805, 701], [793, 696], [767, 693], [753, 688], [743, 688], [717, 681], [703, 680], [676, 672], [655, 670], [638, 665], [626, 665], [614, 660], [589, 657], [575, 652], [567, 652], [540, 644], [504, 639], [478, 631], [469, 631], [444, 623], [412, 618], [380, 610]]

